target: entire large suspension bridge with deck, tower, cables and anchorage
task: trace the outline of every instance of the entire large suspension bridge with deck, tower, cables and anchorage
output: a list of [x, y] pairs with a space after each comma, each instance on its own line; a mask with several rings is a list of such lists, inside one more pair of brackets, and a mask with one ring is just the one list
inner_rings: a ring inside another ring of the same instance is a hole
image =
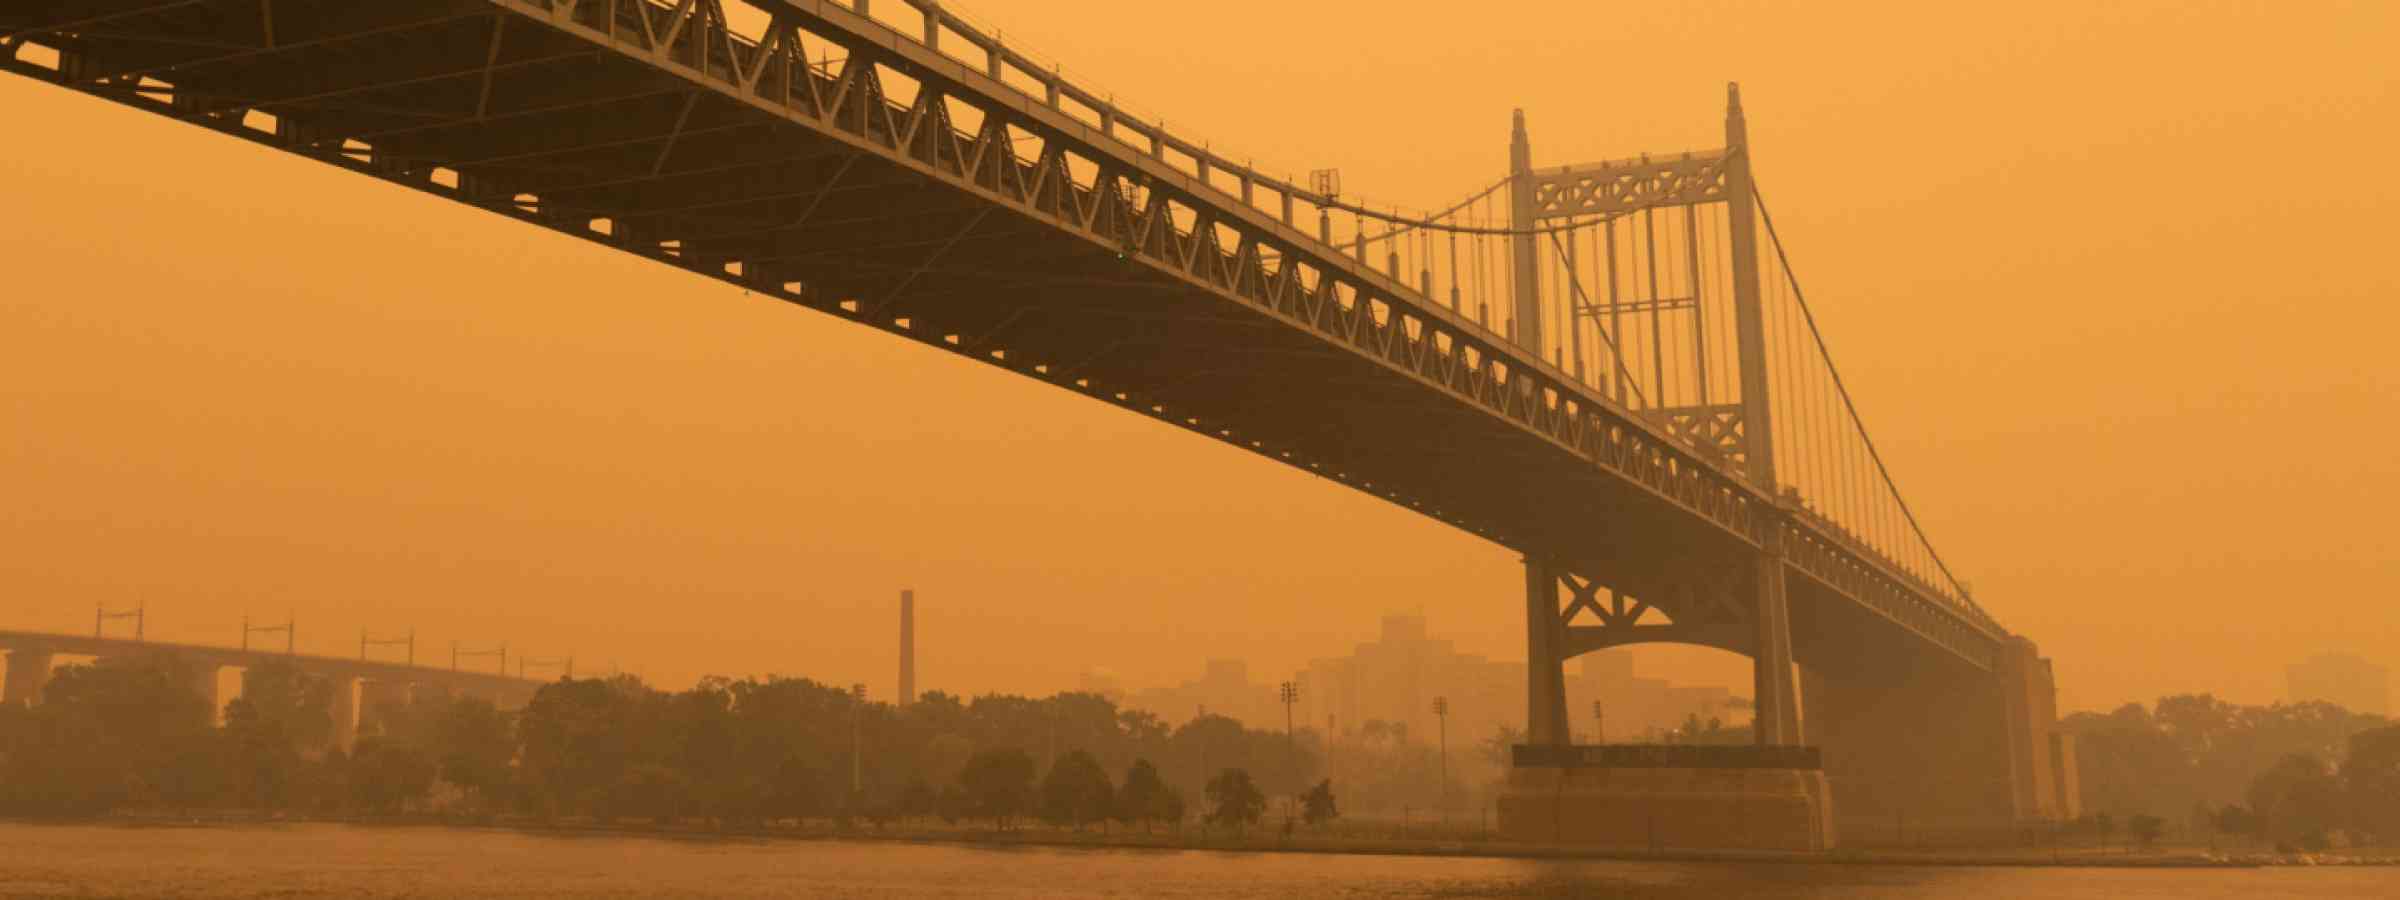
[[[1529, 840], [1622, 838], [1591, 773], [1625, 756], [1567, 746], [1562, 662], [1651, 641], [1757, 662], [1745, 787], [1651, 785], [1697, 842], [2071, 816], [2050, 662], [1877, 454], [1738, 91], [1723, 146], [1574, 166], [1536, 166], [1519, 113], [1505, 173], [1397, 209], [1212, 151], [936, 0], [43, 0], [0, 7], [0, 60], [1519, 550], [1502, 823]], [[1668, 763], [1637, 768], [1730, 766]]]

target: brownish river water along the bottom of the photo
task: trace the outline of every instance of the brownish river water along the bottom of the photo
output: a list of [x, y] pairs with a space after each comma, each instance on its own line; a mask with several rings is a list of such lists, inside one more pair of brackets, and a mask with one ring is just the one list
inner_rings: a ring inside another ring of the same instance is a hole
[[2395, 898], [2400, 869], [1949, 869], [0, 823], [0, 898]]

